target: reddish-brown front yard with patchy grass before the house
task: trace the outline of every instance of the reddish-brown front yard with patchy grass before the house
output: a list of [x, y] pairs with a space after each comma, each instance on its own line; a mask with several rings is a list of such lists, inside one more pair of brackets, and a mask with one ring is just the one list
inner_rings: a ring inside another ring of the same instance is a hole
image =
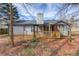
[[79, 36], [72, 42], [68, 39], [48, 39], [30, 42], [26, 36], [15, 36], [12, 47], [8, 36], [0, 36], [0, 55], [2, 56], [74, 56], [79, 55]]

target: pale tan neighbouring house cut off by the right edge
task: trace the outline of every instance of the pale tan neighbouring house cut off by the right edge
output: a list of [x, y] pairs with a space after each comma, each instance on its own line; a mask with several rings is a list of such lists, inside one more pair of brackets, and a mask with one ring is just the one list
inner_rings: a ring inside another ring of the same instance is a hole
[[79, 35], [79, 19], [67, 20], [71, 24], [71, 35]]

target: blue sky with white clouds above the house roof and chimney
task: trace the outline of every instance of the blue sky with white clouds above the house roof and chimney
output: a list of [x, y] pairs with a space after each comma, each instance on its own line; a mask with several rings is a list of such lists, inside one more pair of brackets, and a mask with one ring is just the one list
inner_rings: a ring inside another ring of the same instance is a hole
[[[33, 4], [23, 4], [23, 3], [14, 3], [17, 7], [18, 14], [22, 20], [33, 20], [37, 17], [37, 13], [44, 14], [44, 20], [48, 19], [57, 19], [59, 16], [55, 16], [56, 13], [63, 7], [63, 4], [56, 3], [33, 3]], [[71, 13], [75, 8], [71, 9], [68, 13]]]

